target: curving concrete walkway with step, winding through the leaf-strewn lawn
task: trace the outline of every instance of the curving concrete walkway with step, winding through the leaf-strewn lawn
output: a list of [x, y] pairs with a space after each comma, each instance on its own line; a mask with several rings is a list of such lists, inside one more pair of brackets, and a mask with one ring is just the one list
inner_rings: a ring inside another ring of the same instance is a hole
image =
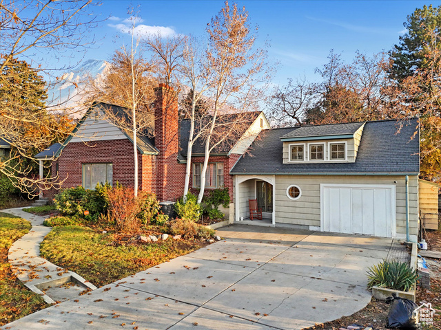
[[78, 274], [40, 257], [40, 243], [52, 230], [43, 225], [44, 217], [25, 212], [23, 208], [10, 208], [1, 212], [16, 215], [32, 224], [30, 232], [12, 244], [8, 254], [12, 272], [26, 287], [43, 296], [49, 304], [74, 298], [87, 288], [96, 289]]

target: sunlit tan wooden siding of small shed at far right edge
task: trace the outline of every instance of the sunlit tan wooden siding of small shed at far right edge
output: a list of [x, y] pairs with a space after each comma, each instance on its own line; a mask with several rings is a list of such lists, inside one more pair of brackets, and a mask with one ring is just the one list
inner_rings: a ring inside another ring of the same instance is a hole
[[[438, 229], [438, 191], [439, 186], [425, 180], [418, 180], [418, 188], [421, 219], [424, 220], [424, 228]], [[427, 215], [424, 215], [427, 214]]]

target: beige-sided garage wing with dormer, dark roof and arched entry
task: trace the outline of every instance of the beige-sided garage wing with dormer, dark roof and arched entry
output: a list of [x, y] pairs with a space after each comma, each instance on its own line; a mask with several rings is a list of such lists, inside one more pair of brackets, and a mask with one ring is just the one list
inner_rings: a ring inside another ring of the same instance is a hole
[[271, 129], [235, 177], [236, 221], [258, 199], [272, 225], [409, 238], [418, 234], [416, 119]]

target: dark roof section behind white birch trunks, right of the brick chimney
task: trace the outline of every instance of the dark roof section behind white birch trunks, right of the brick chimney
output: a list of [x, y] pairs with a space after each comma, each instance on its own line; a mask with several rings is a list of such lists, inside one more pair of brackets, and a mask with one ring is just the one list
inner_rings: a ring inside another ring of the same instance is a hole
[[[246, 117], [244, 118], [243, 125], [240, 125], [240, 131], [237, 131], [236, 134], [234, 134], [235, 136], [226, 140], [225, 143], [216, 146], [211, 154], [227, 154], [236, 144], [236, 142], [238, 142], [240, 137], [245, 134], [249, 126], [254, 123], [260, 113], [262, 113], [262, 111], [250, 111], [245, 113]], [[240, 115], [244, 115], [244, 113], [229, 113], [227, 115], [221, 115], [218, 118], [218, 124], [221, 124], [222, 122], [232, 122]], [[209, 119], [211, 118], [207, 118], [207, 120]], [[183, 157], [187, 156], [190, 124], [191, 123], [188, 119], [184, 119], [179, 122], [179, 148], [181, 148], [181, 154]], [[198, 131], [195, 129], [194, 134], [196, 135], [197, 133]], [[193, 155], [203, 155], [205, 153], [205, 141], [203, 139], [199, 138], [196, 140], [196, 142], [193, 144], [192, 153]]]

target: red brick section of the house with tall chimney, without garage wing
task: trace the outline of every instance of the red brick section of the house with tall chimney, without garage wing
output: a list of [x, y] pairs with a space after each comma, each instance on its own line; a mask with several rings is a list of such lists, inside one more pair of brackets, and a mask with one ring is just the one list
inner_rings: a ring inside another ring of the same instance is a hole
[[[161, 203], [171, 203], [183, 195], [189, 120], [179, 120], [176, 93], [165, 84], [155, 89], [154, 125], [136, 137], [138, 148], [139, 189], [154, 192]], [[123, 109], [96, 103], [85, 113], [72, 135], [63, 144], [53, 144], [36, 158], [52, 161], [52, 175], [63, 181], [61, 189], [83, 186], [93, 189], [98, 182], [119, 182], [134, 185], [133, 135], [130, 130], [113, 124], [106, 111], [114, 117]], [[269, 123], [263, 112], [250, 113], [248, 127], [236, 140], [218, 146], [209, 157], [206, 191], [227, 187], [233, 200], [233, 177], [229, 170], [236, 164], [254, 138]], [[196, 192], [200, 184], [203, 142], [193, 147], [190, 188]], [[52, 198], [57, 190], [43, 191]]]

